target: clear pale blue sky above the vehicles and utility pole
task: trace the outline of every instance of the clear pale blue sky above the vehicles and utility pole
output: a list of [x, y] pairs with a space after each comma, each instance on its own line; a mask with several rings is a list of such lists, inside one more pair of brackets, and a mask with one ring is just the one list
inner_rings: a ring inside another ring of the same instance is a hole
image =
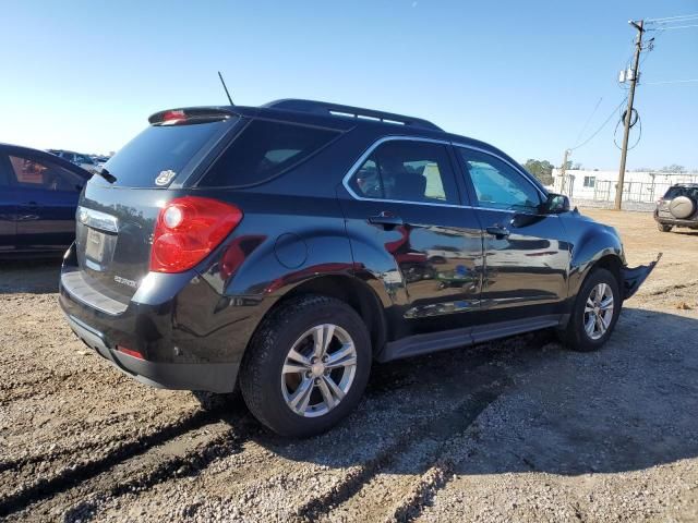
[[[413, 114], [558, 165], [625, 96], [627, 21], [693, 13], [696, 0], [9, 0], [0, 142], [115, 150], [157, 110], [224, 104], [221, 70], [240, 105], [299, 97]], [[667, 31], [642, 80], [698, 78], [697, 57], [698, 27]], [[698, 83], [641, 85], [636, 107], [629, 168], [698, 168]], [[615, 121], [571, 159], [617, 168]]]

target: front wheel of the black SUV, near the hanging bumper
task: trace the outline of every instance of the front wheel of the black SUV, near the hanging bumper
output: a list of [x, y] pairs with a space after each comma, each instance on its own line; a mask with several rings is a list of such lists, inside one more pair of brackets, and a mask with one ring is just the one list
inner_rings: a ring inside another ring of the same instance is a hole
[[594, 269], [585, 280], [561, 339], [570, 349], [597, 351], [609, 340], [621, 314], [618, 281], [606, 269]]

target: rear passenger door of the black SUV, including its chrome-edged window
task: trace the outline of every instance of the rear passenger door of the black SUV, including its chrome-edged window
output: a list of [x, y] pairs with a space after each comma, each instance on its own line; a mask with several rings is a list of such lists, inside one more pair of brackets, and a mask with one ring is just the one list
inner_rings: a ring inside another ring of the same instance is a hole
[[396, 338], [471, 325], [482, 284], [478, 219], [461, 205], [445, 142], [378, 141], [345, 178], [354, 262], [390, 296]]

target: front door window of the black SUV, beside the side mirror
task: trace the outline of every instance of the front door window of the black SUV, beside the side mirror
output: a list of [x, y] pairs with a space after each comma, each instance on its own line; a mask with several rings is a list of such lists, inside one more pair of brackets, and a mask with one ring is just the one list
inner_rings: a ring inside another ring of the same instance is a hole
[[506, 210], [535, 210], [542, 203], [538, 188], [498, 158], [458, 148], [476, 190], [478, 204]]

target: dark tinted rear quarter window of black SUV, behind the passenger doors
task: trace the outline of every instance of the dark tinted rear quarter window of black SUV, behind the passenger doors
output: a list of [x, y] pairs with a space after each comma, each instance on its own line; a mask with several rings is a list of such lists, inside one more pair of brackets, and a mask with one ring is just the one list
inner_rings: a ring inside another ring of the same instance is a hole
[[329, 143], [337, 131], [253, 120], [200, 186], [243, 186], [276, 177]]

